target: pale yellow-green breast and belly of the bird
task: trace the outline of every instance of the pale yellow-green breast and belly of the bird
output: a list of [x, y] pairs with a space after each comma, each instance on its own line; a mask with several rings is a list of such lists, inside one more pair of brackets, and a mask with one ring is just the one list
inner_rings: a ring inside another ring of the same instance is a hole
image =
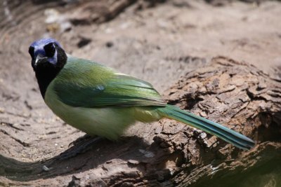
[[52, 91], [51, 83], [46, 90], [45, 102], [65, 123], [91, 135], [117, 139], [126, 127], [136, 121], [136, 109], [131, 108], [84, 108], [72, 107], [60, 102]]

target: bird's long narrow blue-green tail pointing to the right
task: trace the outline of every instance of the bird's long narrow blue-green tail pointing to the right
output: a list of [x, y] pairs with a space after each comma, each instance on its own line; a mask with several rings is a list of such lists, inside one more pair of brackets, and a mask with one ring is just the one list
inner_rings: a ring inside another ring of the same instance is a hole
[[243, 134], [235, 132], [234, 130], [230, 130], [223, 125], [212, 122], [211, 120], [196, 116], [193, 113], [183, 111], [176, 106], [167, 104], [166, 107], [160, 108], [159, 112], [166, 118], [178, 120], [181, 123], [191, 125], [192, 127], [196, 127], [204, 132], [213, 134], [216, 137], [219, 137], [224, 141], [237, 146], [238, 148], [249, 150], [255, 145], [253, 140], [245, 137]]

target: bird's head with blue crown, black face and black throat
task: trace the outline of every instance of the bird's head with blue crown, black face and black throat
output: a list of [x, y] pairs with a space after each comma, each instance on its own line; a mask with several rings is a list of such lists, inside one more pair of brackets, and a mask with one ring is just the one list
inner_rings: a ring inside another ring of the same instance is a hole
[[66, 64], [67, 55], [55, 39], [34, 41], [28, 52], [32, 57], [32, 68], [35, 71], [41, 95], [44, 97], [48, 85]]

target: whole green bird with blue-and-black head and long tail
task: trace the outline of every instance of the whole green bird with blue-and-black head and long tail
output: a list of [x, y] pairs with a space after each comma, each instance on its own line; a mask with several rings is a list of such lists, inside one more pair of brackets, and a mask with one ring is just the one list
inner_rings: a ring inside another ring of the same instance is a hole
[[65, 123], [86, 134], [117, 140], [137, 121], [169, 118], [243, 150], [255, 145], [239, 132], [166, 104], [146, 81], [65, 53], [55, 39], [34, 41], [28, 51], [46, 105]]

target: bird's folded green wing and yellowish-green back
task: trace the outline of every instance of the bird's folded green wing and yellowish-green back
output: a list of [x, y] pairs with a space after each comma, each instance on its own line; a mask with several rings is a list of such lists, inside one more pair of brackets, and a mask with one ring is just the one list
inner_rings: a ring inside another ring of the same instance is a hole
[[68, 57], [53, 90], [61, 102], [77, 107], [166, 105], [150, 83], [74, 57]]

